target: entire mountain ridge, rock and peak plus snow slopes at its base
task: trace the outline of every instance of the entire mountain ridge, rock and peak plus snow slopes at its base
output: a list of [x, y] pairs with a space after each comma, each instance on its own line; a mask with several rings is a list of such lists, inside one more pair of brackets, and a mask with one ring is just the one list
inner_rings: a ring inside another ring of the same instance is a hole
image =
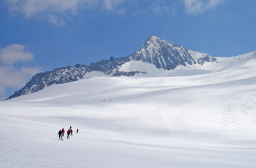
[[[39, 73], [22, 89], [8, 99], [38, 92], [53, 84], [68, 83], [93, 76], [187, 76], [213, 73], [229, 68], [239, 60], [255, 57], [255, 51], [234, 59], [216, 58], [208, 54], [187, 50], [183, 46], [151, 35], [138, 51], [126, 57], [101, 60], [91, 65], [75, 65]], [[101, 73], [93, 73], [101, 72]]]

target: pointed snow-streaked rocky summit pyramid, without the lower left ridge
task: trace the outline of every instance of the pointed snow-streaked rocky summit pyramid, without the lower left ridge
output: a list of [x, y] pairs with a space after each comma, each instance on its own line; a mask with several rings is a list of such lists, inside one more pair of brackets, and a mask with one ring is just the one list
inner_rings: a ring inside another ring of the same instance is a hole
[[151, 35], [146, 43], [134, 54], [128, 56], [129, 60], [143, 61], [155, 65], [158, 69], [175, 69], [178, 65], [203, 64], [205, 61], [215, 61], [216, 58], [210, 55], [197, 57], [198, 52], [194, 52], [194, 57], [182, 46], [173, 44], [159, 37]]

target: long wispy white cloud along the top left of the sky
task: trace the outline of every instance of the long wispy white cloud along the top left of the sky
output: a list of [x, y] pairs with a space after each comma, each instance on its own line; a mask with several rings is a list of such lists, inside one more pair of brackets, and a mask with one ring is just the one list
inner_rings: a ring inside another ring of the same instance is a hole
[[89, 8], [102, 7], [108, 11], [124, 13], [117, 8], [124, 0], [5, 0], [10, 12], [21, 13], [25, 18], [38, 18], [64, 26], [66, 18]]

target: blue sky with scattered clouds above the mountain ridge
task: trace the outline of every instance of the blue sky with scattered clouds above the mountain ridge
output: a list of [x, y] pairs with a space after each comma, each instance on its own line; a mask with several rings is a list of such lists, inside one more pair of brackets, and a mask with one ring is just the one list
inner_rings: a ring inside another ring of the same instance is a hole
[[213, 56], [256, 50], [255, 0], [3, 0], [0, 97], [40, 71], [135, 52], [149, 35]]

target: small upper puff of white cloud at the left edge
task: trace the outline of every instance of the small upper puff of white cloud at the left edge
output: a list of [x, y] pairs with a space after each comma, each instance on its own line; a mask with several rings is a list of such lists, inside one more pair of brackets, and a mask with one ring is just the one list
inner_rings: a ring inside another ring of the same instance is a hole
[[33, 54], [26, 52], [24, 45], [12, 44], [0, 49], [0, 60], [4, 64], [13, 64], [18, 61], [29, 61], [33, 59]]

